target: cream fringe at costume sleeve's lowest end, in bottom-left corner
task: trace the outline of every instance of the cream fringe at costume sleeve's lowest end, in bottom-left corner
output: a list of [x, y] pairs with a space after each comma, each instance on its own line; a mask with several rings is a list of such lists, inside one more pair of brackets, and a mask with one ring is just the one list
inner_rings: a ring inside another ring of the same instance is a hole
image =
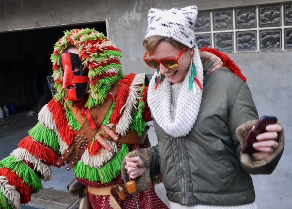
[[0, 176], [0, 190], [12, 208], [20, 209], [20, 194], [16, 191], [15, 186], [9, 184], [5, 175]]

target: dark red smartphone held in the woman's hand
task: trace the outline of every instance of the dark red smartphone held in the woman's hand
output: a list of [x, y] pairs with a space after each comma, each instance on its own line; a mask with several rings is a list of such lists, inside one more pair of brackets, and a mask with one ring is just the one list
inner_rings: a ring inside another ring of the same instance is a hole
[[258, 152], [254, 147], [253, 143], [256, 142], [256, 136], [263, 132], [266, 132], [266, 126], [269, 124], [274, 124], [278, 119], [274, 116], [262, 116], [256, 123], [254, 129], [250, 130], [248, 133], [243, 146], [241, 147], [242, 153], [256, 153]]

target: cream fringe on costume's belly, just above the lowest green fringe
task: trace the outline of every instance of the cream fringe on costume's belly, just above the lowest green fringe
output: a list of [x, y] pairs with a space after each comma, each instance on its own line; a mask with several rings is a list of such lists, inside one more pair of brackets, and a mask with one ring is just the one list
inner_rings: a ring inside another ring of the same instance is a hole
[[118, 146], [117, 143], [114, 141], [109, 141], [105, 139], [105, 141], [110, 145], [112, 148], [112, 151], [109, 152], [106, 149], [101, 149], [100, 154], [97, 153], [95, 156], [90, 156], [89, 151], [86, 149], [81, 157], [81, 161], [85, 165], [89, 165], [91, 168], [94, 167], [96, 169], [99, 169], [104, 165], [105, 162], [109, 161], [117, 152], [118, 152]]

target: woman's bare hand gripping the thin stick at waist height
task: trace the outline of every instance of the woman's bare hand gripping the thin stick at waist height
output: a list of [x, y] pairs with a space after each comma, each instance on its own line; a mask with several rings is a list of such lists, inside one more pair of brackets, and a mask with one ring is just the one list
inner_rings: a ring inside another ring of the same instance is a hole
[[135, 179], [146, 171], [146, 165], [140, 157], [126, 157], [126, 166], [129, 177]]

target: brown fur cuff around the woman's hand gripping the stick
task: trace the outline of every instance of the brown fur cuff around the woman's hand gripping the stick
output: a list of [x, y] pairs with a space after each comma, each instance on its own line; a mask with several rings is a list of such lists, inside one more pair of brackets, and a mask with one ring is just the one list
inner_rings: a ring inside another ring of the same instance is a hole
[[129, 152], [123, 159], [121, 164], [121, 173], [125, 184], [129, 181], [129, 176], [127, 173], [126, 166], [126, 157], [140, 157], [144, 164], [146, 165], [146, 172], [142, 174], [140, 177], [134, 179], [137, 184], [138, 192], [150, 190], [152, 188], [151, 178], [150, 178], [150, 166], [152, 161], [152, 155], [149, 148], [134, 150]]

